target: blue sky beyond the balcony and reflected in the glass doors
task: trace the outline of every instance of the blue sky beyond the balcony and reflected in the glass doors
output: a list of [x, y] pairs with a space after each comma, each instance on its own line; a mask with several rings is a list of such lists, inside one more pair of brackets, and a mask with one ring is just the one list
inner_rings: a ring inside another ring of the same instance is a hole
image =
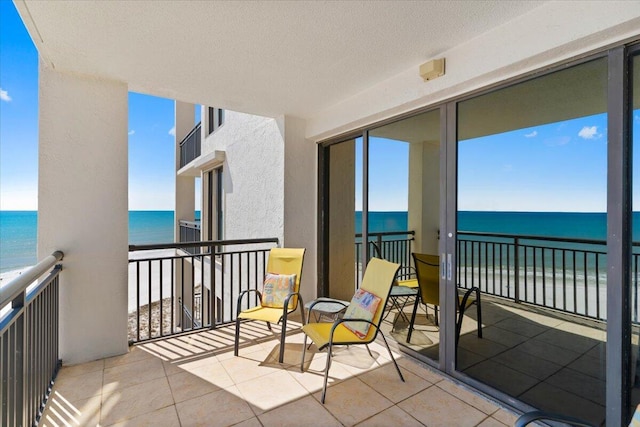
[[[13, 3], [0, 0], [1, 210], [37, 209], [37, 102], [36, 49]], [[131, 210], [174, 207], [173, 123], [172, 100], [130, 93]], [[633, 125], [640, 127], [638, 110]], [[639, 164], [640, 149], [634, 151]], [[377, 139], [370, 153], [370, 170], [385, 171], [370, 174], [370, 209], [406, 210], [408, 144]], [[604, 114], [462, 141], [459, 209], [603, 212], [606, 166]], [[359, 181], [358, 167], [356, 173]], [[634, 171], [638, 179], [640, 167]], [[634, 194], [638, 210], [640, 192]]]

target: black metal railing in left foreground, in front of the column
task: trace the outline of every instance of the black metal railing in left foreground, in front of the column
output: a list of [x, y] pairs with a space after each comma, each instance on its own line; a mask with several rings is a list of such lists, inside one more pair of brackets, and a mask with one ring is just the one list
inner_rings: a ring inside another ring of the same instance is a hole
[[54, 252], [0, 288], [0, 425], [37, 425], [60, 368], [62, 257]]

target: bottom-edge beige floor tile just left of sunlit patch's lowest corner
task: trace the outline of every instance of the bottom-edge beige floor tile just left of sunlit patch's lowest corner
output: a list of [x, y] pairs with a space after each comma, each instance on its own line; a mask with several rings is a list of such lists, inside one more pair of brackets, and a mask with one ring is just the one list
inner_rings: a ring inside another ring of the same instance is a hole
[[253, 411], [239, 395], [238, 390], [214, 391], [204, 396], [176, 404], [180, 425], [231, 426], [254, 417]]

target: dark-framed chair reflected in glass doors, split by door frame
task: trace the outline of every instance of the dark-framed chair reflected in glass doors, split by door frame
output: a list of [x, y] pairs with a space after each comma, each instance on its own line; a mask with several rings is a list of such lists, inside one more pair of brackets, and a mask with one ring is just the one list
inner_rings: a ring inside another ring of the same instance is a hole
[[[412, 255], [420, 288], [419, 299], [425, 306], [427, 304], [433, 306], [435, 312], [435, 324], [438, 326], [438, 306], [440, 305], [440, 258], [438, 255], [418, 254], [415, 252]], [[475, 294], [475, 298], [472, 297], [472, 294]], [[477, 309], [478, 338], [482, 338], [482, 306], [480, 304], [480, 290], [477, 287], [473, 287], [466, 290], [464, 294], [458, 294], [458, 306], [456, 307], [456, 311], [458, 313], [458, 319], [456, 321], [456, 348], [458, 346], [458, 340], [460, 339], [460, 331], [462, 330], [464, 311], [474, 303], [476, 304]], [[416, 304], [413, 307], [413, 313], [411, 315], [407, 342], [411, 339], [411, 332], [413, 331], [417, 308], [418, 302], [416, 300]]]

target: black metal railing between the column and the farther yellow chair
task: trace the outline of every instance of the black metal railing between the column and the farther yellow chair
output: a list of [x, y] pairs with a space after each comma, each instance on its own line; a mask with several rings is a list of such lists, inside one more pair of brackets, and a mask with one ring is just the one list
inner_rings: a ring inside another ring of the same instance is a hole
[[[136, 284], [129, 341], [235, 321], [240, 292], [259, 289], [268, 252], [277, 245], [277, 238], [266, 238], [129, 246], [129, 275]], [[195, 248], [198, 253], [189, 251]]]

